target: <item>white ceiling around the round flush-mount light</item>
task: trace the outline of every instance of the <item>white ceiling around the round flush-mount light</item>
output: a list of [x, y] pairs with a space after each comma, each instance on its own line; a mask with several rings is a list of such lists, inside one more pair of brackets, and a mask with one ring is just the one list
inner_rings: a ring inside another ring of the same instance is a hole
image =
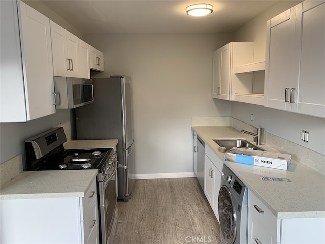
[[[41, 0], [82, 33], [233, 32], [277, 1], [267, 0]], [[185, 14], [195, 3], [213, 5], [204, 17]]]

